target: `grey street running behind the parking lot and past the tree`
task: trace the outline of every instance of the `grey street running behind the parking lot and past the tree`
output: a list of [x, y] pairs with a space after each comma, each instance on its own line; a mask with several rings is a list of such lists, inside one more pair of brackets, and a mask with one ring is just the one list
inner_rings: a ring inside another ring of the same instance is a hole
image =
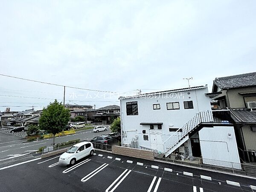
[[[97, 135], [105, 135], [109, 134], [110, 132], [111, 131], [108, 129], [108, 131], [101, 131], [99, 133], [95, 133], [93, 129], [88, 129], [84, 131], [78, 131], [76, 134], [56, 137], [55, 143], [63, 143], [76, 139], [89, 140]], [[15, 156], [32, 153], [34, 151], [37, 151], [40, 147], [50, 146], [52, 144], [52, 138], [33, 142], [26, 142], [26, 140], [17, 140], [15, 136], [6, 134], [4, 132], [0, 132], [0, 138], [2, 138], [0, 140], [0, 162], [3, 159], [11, 159]]]

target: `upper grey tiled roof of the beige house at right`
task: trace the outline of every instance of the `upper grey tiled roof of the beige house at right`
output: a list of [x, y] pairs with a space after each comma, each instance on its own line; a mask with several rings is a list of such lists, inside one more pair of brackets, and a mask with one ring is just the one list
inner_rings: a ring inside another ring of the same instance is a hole
[[213, 82], [221, 89], [255, 86], [256, 72], [236, 76], [216, 77]]

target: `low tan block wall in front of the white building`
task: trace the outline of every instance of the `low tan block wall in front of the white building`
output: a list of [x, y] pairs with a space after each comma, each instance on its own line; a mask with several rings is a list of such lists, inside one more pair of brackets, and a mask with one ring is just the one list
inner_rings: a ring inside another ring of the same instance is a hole
[[112, 146], [112, 153], [146, 160], [154, 160], [154, 151], [121, 146]]

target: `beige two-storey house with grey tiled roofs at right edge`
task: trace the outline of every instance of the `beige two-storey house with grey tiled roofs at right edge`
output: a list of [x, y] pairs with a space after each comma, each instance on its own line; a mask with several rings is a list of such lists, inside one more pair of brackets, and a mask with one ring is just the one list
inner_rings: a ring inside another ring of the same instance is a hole
[[256, 72], [215, 78], [208, 95], [234, 124], [240, 158], [256, 162]]

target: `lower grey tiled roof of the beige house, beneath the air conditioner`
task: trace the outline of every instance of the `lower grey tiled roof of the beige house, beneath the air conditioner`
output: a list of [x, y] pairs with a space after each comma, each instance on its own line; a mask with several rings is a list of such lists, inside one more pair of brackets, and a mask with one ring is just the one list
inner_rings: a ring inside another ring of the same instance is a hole
[[256, 111], [232, 109], [230, 110], [230, 114], [236, 123], [256, 123]]

